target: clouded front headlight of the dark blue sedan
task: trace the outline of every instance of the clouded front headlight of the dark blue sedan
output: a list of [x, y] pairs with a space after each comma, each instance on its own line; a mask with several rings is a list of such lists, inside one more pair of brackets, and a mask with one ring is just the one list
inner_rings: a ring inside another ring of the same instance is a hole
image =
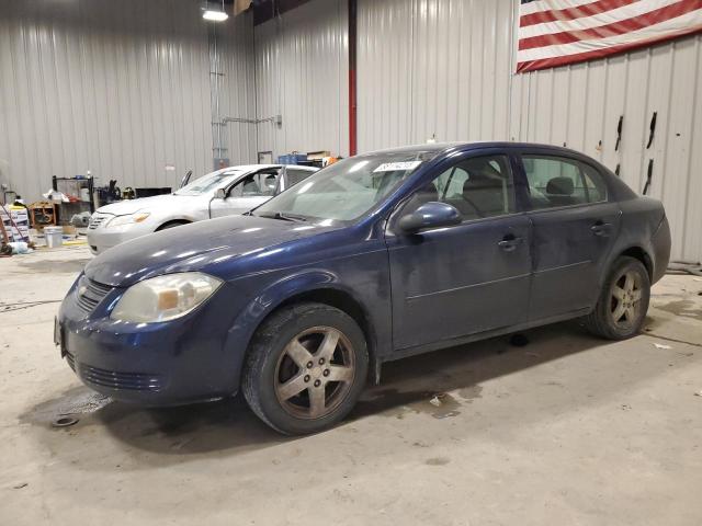
[[124, 293], [110, 318], [136, 323], [173, 320], [205, 301], [220, 285], [220, 279], [200, 272], [144, 279]]

